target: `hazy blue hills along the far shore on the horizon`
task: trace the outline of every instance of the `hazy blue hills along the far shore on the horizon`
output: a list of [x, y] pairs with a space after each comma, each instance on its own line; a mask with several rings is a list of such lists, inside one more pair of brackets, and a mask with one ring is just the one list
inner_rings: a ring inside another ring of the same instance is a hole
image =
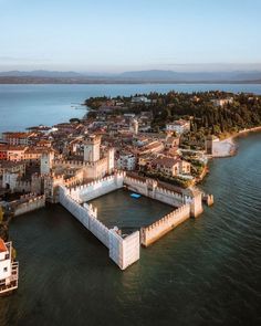
[[133, 71], [121, 74], [59, 71], [0, 72], [0, 84], [115, 84], [115, 83], [260, 83], [259, 71], [174, 72], [164, 70]]

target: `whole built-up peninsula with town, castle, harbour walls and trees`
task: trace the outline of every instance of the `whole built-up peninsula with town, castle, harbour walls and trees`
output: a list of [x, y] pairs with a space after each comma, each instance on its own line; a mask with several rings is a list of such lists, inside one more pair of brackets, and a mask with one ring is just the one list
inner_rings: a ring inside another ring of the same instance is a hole
[[[244, 108], [232, 116], [240, 102]], [[82, 119], [2, 133], [0, 293], [18, 287], [9, 222], [45, 203], [67, 209], [108, 248], [122, 270], [139, 259], [140, 244], [148, 246], [198, 217], [202, 201], [213, 203], [213, 197], [196, 186], [208, 172], [209, 158], [234, 154], [233, 144], [222, 137], [258, 126], [259, 117], [250, 116], [248, 123], [241, 116], [251, 107], [260, 109], [260, 103], [259, 96], [223, 92], [91, 97], [83, 104], [87, 114]], [[197, 107], [199, 114], [191, 114]], [[87, 202], [119, 188], [165, 202], [174, 211], [132, 234], [122, 234], [117, 225], [108, 229]]]

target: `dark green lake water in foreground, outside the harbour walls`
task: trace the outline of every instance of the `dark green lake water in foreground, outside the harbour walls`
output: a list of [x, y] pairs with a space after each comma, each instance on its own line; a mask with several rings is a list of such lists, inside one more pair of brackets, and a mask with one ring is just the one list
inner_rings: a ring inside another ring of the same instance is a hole
[[202, 185], [215, 206], [125, 272], [62, 207], [17, 218], [20, 284], [0, 325], [261, 325], [261, 134], [238, 143]]

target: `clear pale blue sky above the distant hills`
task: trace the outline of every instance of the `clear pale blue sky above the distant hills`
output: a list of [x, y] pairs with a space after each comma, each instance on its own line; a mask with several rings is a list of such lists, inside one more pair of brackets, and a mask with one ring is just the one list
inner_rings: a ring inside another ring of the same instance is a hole
[[261, 71], [261, 0], [0, 0], [0, 71]]

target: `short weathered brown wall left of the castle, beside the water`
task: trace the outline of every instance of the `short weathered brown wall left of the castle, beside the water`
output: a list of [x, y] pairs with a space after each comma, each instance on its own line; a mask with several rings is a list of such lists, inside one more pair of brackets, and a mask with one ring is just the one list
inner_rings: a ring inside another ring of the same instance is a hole
[[19, 201], [15, 201], [13, 204], [13, 214], [14, 217], [34, 211], [45, 206], [45, 196], [35, 196], [34, 193], [29, 193], [21, 196]]

